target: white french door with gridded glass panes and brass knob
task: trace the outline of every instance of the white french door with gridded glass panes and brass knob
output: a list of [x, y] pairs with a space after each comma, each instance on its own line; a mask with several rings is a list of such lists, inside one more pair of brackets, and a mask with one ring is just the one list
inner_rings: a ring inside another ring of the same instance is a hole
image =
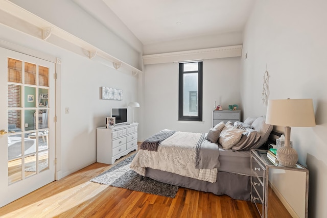
[[0, 47], [0, 207], [55, 180], [54, 73]]

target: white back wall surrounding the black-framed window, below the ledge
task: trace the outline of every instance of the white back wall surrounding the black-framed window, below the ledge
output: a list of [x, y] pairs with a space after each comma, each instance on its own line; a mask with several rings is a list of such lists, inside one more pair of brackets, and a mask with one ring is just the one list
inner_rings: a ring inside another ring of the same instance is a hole
[[227, 109], [240, 100], [240, 57], [203, 61], [203, 122], [178, 120], [178, 63], [152, 64], [144, 68], [142, 125], [145, 139], [162, 129], [207, 132], [212, 127], [214, 102]]

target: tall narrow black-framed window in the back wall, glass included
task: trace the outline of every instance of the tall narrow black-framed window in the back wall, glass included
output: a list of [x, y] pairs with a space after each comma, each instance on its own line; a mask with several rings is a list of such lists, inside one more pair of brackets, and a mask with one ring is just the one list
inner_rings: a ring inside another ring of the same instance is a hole
[[202, 121], [202, 62], [179, 64], [178, 120]]

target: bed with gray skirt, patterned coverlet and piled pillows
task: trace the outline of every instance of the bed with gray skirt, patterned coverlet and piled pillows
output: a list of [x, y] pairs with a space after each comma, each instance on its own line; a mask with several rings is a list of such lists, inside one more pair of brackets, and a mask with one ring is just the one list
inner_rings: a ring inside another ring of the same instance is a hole
[[250, 150], [267, 141], [265, 117], [223, 122], [207, 133], [162, 130], [141, 144], [130, 168], [180, 187], [250, 201]]

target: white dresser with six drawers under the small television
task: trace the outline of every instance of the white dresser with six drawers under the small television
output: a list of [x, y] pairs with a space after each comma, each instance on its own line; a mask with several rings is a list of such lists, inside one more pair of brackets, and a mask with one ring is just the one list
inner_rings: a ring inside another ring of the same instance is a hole
[[116, 159], [137, 150], [138, 123], [97, 128], [97, 162], [113, 164]]

